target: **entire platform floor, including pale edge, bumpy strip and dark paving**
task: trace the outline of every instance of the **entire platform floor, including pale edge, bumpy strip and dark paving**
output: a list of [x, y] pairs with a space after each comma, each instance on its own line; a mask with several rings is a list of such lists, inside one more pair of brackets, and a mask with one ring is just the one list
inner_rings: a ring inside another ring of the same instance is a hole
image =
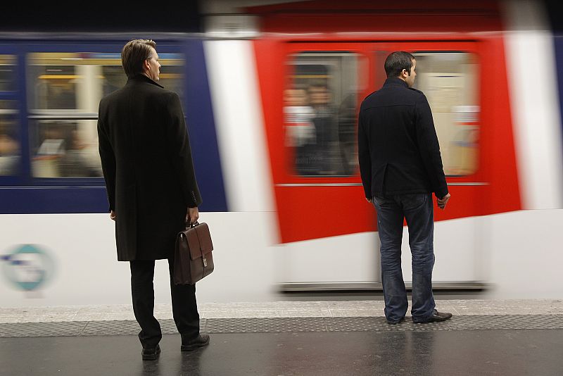
[[210, 346], [187, 353], [163, 311], [157, 316], [170, 334], [158, 361], [141, 361], [139, 327], [127, 306], [98, 307], [97, 320], [84, 313], [93, 306], [0, 308], [0, 374], [563, 374], [563, 301], [437, 306], [453, 319], [387, 325], [381, 301], [207, 304], [201, 327]]

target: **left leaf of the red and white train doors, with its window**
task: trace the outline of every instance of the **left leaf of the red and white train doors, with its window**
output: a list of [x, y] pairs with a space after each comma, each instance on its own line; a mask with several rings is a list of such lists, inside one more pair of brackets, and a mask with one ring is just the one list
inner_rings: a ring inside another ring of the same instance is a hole
[[375, 217], [363, 194], [356, 140], [358, 108], [373, 89], [367, 45], [284, 46], [284, 75], [277, 77], [282, 116], [267, 122], [284, 243], [279, 279], [373, 281]]

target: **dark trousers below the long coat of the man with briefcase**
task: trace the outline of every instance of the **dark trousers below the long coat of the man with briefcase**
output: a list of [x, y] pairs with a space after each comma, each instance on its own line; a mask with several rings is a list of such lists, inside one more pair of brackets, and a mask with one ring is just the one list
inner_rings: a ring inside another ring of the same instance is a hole
[[[163, 334], [154, 317], [154, 261], [129, 261], [131, 265], [131, 294], [133, 311], [141, 326], [139, 339], [144, 349], [156, 347]], [[170, 270], [170, 291], [172, 293], [172, 315], [182, 342], [199, 335], [199, 313], [196, 304], [196, 285], [174, 284], [172, 268], [174, 260], [168, 259]]]

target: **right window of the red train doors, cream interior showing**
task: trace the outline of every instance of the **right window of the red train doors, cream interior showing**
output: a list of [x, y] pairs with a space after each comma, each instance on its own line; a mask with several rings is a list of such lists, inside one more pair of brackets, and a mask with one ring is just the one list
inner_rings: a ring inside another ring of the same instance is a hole
[[474, 54], [418, 52], [415, 87], [428, 98], [445, 175], [471, 175], [479, 151], [479, 65]]

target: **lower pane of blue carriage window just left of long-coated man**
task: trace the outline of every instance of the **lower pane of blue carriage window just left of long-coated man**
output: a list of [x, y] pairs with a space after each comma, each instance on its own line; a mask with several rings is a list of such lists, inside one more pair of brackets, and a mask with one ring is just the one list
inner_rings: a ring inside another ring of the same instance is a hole
[[101, 177], [96, 120], [30, 123], [33, 177]]

